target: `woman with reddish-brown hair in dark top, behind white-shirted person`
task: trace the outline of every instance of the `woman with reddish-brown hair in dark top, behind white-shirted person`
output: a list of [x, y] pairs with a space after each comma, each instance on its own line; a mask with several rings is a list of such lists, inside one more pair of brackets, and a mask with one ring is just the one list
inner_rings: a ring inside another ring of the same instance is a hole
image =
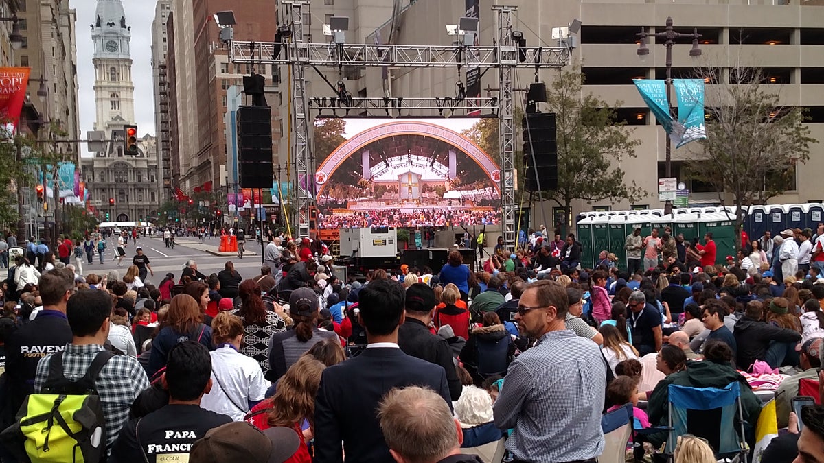
[[178, 294], [171, 298], [162, 328], [152, 340], [152, 354], [146, 369], [148, 376], [152, 377], [166, 367], [166, 357], [175, 344], [188, 340], [213, 350], [212, 329], [204, 324], [198, 302], [188, 294]]

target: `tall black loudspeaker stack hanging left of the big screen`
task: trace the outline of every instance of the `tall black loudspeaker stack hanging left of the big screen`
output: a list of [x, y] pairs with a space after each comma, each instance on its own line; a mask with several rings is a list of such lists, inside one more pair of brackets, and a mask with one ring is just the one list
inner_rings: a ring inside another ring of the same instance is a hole
[[272, 110], [237, 110], [237, 166], [241, 188], [272, 188]]

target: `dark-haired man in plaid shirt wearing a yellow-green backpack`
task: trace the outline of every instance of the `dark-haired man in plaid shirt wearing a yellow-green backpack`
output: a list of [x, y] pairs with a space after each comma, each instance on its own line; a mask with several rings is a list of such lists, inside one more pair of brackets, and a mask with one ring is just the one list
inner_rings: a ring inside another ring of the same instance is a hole
[[[72, 328], [72, 342], [63, 351], [63, 374], [72, 381], [86, 374], [97, 353], [109, 337], [111, 297], [108, 292], [87, 289], [69, 297], [66, 305], [68, 325]], [[37, 364], [35, 393], [40, 393], [49, 377], [49, 354]], [[129, 407], [134, 399], [149, 387], [146, 372], [137, 359], [115, 355], [97, 376], [95, 389], [100, 395], [105, 416], [106, 447], [111, 447], [129, 419]]]

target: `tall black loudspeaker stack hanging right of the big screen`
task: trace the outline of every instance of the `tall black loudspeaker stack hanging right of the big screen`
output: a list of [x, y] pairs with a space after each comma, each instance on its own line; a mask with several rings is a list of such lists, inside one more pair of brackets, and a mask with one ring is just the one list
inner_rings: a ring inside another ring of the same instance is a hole
[[[522, 119], [524, 188], [527, 191], [558, 188], [558, 145], [555, 113], [527, 113]], [[534, 157], [533, 157], [534, 154]]]

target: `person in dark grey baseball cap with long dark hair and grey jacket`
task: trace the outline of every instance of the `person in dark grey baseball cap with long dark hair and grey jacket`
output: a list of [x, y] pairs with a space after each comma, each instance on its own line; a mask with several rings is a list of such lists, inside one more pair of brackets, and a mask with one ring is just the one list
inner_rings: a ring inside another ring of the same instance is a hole
[[316, 343], [326, 338], [337, 339], [334, 331], [317, 328], [319, 307], [319, 295], [311, 288], [297, 288], [289, 295], [289, 316], [294, 320], [294, 328], [275, 333], [269, 340], [267, 380], [278, 381]]

